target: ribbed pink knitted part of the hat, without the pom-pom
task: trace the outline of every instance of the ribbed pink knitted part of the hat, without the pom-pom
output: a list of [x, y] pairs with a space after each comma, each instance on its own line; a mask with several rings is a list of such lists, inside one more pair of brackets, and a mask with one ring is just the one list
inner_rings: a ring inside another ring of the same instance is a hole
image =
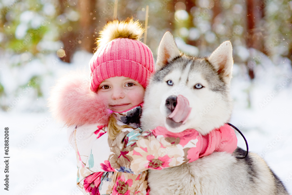
[[154, 70], [151, 50], [140, 41], [114, 39], [95, 52], [90, 61], [91, 86], [96, 92], [99, 84], [110, 77], [129, 77], [144, 88]]

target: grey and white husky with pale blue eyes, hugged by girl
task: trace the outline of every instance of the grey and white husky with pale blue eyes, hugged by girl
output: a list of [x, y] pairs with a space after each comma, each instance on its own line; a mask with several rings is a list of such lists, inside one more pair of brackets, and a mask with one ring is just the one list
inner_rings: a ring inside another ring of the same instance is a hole
[[[180, 54], [170, 32], [162, 38], [156, 73], [145, 92], [142, 128], [167, 127], [172, 132], [196, 129], [205, 135], [224, 125], [232, 112], [229, 94], [232, 45], [223, 42], [208, 58]], [[184, 96], [189, 113], [173, 117]], [[192, 163], [150, 170], [150, 194], [288, 194], [283, 183], [255, 153], [237, 148], [232, 154], [214, 152]]]

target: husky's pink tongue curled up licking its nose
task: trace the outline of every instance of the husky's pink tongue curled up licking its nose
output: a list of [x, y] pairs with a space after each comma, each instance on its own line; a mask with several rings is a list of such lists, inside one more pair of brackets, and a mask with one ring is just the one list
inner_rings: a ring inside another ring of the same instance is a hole
[[175, 122], [187, 122], [189, 115], [191, 113], [192, 108], [190, 107], [189, 101], [182, 95], [178, 95], [177, 104], [173, 110], [173, 112], [168, 115], [168, 118], [171, 118]]

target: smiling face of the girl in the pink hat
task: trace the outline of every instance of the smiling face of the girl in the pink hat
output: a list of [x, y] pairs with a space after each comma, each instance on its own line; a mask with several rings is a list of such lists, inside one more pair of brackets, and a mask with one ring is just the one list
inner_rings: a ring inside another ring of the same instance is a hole
[[129, 77], [111, 77], [100, 83], [97, 94], [109, 103], [109, 109], [123, 112], [143, 102], [145, 89]]

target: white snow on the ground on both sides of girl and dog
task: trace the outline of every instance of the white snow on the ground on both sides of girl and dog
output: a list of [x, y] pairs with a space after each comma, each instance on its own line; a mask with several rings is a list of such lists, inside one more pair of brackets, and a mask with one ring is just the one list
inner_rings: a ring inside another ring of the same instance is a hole
[[[71, 69], [87, 68], [90, 57], [77, 53], [71, 66], [58, 61], [53, 66], [55, 75], [47, 75], [43, 87], [53, 85], [52, 77], [56, 79]], [[234, 65], [231, 86], [234, 111], [230, 122], [243, 132], [250, 151], [260, 154], [292, 193], [292, 127], [289, 124], [292, 71], [291, 64], [283, 63], [285, 59], [279, 61], [281, 63], [277, 66], [271, 63], [265, 68], [258, 66], [253, 83], [244, 74], [242, 65]], [[0, 141], [4, 142], [4, 127], [9, 127], [10, 156], [9, 192], [2, 186], [1, 194], [80, 195], [76, 187], [75, 153], [67, 142], [66, 129], [47, 111], [21, 112], [21, 107], [25, 106], [21, 101], [26, 100], [21, 99], [8, 113], [0, 112]], [[238, 145], [245, 149], [239, 134], [238, 140]], [[3, 157], [0, 161], [1, 179], [5, 169]]]

